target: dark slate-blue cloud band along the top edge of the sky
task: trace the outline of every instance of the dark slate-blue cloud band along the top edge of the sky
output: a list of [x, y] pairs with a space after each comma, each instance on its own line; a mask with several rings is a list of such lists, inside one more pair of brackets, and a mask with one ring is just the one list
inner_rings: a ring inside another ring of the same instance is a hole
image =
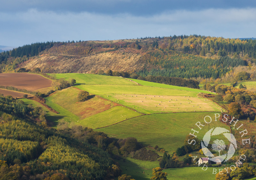
[[0, 11], [26, 11], [36, 8], [39, 11], [70, 11], [103, 14], [129, 13], [152, 15], [164, 11], [201, 9], [230, 9], [256, 7], [255, 0], [8, 0], [1, 2]]

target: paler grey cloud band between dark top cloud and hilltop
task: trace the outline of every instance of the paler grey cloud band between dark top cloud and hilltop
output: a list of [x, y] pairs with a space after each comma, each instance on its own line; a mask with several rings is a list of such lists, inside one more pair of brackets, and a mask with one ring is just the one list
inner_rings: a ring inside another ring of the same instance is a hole
[[47, 40], [114, 40], [145, 36], [201, 34], [253, 37], [256, 8], [166, 11], [152, 16], [129, 13], [54, 12], [30, 9], [0, 13], [0, 44], [22, 46]]

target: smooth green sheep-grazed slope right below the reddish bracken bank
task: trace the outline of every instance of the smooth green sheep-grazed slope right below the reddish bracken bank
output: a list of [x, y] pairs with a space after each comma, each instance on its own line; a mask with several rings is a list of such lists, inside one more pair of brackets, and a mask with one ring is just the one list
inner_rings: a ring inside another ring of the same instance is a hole
[[81, 120], [81, 125], [97, 128], [109, 126], [125, 119], [140, 116], [139, 112], [132, 111], [123, 106], [115, 106], [106, 111], [100, 112], [88, 118]]

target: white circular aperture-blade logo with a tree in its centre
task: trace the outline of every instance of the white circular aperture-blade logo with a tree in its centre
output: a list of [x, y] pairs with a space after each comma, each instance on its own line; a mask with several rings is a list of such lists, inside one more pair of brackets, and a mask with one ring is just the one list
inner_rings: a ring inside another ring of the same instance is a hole
[[[220, 138], [220, 140], [216, 138]], [[226, 138], [230, 142], [228, 152], [225, 154], [223, 154], [223, 150], [226, 148], [226, 144], [225, 141], [222, 140], [223, 138]], [[212, 147], [210, 149], [217, 151], [217, 154], [219, 154], [218, 156], [214, 156], [207, 148], [210, 141], [212, 142]], [[235, 153], [237, 148], [236, 138], [233, 134], [229, 133], [227, 129], [223, 127], [215, 127], [205, 133], [204, 138], [201, 141], [201, 147], [204, 155], [208, 156], [209, 160], [213, 162], [226, 162]]]

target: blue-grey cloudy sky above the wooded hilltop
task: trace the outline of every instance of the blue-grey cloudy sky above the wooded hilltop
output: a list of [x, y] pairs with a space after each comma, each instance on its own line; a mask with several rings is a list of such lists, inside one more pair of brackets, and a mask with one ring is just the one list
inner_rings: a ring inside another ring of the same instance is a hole
[[256, 37], [255, 0], [0, 0], [0, 45], [172, 35]]

